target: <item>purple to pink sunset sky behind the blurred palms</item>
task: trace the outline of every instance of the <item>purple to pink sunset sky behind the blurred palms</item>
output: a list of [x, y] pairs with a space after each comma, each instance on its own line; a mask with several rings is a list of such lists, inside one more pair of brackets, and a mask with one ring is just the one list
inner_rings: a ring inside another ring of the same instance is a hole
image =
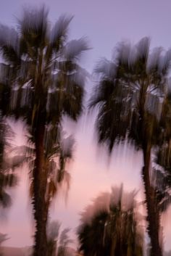
[[[143, 36], [151, 38], [151, 48], [162, 46], [170, 48], [170, 0], [49, 0], [22, 1], [0, 0], [0, 23], [17, 25], [22, 7], [49, 7], [49, 20], [55, 22], [59, 15], [74, 15], [70, 24], [70, 38], [88, 38], [91, 50], [83, 56], [82, 66], [92, 73], [93, 67], [101, 57], [112, 56], [112, 50], [122, 40], [136, 43]], [[88, 96], [91, 95], [93, 79], [86, 85]], [[88, 97], [87, 96], [87, 97]], [[75, 156], [70, 165], [72, 182], [67, 202], [60, 195], [51, 207], [51, 219], [59, 220], [62, 226], [72, 228], [72, 234], [79, 223], [79, 212], [93, 197], [101, 191], [110, 191], [111, 186], [124, 184], [128, 191], [136, 189], [138, 197], [142, 196], [141, 165], [142, 154], [125, 146], [114, 149], [109, 161], [96, 144], [93, 130], [94, 115], [84, 115], [78, 124], [66, 122], [66, 129], [74, 133], [76, 146]], [[23, 143], [22, 126], [17, 124], [17, 144]], [[20, 182], [10, 193], [13, 205], [2, 216], [1, 232], [10, 237], [4, 244], [23, 247], [32, 243], [33, 221], [30, 200], [28, 197], [27, 168], [20, 171]], [[170, 247], [170, 212], [164, 218], [164, 247]]]

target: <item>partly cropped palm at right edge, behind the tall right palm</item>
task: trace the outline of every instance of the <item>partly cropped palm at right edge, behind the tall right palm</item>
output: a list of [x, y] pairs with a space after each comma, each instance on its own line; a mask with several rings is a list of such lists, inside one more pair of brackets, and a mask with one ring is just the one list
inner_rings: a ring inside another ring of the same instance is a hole
[[162, 139], [155, 151], [154, 186], [160, 212], [165, 212], [171, 203], [171, 94], [170, 88], [162, 106]]

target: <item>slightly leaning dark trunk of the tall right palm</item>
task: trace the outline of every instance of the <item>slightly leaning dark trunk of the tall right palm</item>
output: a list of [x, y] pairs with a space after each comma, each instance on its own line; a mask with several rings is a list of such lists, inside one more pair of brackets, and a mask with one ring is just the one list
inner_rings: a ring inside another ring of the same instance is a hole
[[143, 147], [144, 166], [142, 170], [144, 191], [146, 197], [148, 232], [151, 239], [151, 256], [162, 256], [162, 248], [159, 244], [159, 211], [155, 198], [154, 188], [151, 186], [149, 168], [151, 160], [151, 146]]

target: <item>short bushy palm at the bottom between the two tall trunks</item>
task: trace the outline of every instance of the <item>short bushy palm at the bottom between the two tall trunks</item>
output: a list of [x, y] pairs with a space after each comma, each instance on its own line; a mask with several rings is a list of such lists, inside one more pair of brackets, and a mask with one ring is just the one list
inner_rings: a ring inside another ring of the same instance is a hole
[[143, 233], [135, 215], [135, 191], [120, 188], [97, 197], [82, 212], [78, 227], [80, 252], [87, 256], [143, 255]]

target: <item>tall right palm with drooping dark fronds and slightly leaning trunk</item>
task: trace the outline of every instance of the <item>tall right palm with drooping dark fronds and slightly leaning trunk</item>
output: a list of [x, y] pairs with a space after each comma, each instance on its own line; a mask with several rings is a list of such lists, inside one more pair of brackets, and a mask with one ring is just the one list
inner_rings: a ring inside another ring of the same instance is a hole
[[102, 60], [96, 67], [99, 82], [91, 99], [98, 106], [96, 130], [99, 143], [112, 152], [116, 143], [128, 139], [143, 152], [142, 178], [146, 197], [151, 255], [162, 255], [159, 242], [159, 211], [151, 186], [151, 149], [159, 143], [159, 119], [170, 67], [170, 51], [149, 51], [149, 38], [135, 46], [122, 43], [115, 59]]

